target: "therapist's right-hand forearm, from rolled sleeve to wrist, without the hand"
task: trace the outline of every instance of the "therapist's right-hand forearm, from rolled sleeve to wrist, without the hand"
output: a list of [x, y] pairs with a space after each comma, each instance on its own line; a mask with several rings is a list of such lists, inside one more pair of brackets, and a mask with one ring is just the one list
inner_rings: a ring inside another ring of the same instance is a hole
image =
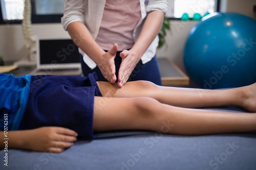
[[147, 50], [148, 46], [156, 38], [159, 30], [162, 26], [164, 13], [162, 11], [152, 11], [148, 13], [141, 33], [132, 47], [132, 51], [135, 51], [138, 56], [142, 56]]

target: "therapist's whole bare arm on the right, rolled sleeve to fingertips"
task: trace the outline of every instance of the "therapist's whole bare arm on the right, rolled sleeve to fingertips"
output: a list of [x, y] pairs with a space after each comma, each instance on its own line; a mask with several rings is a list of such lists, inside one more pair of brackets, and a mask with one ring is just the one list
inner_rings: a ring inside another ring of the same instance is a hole
[[120, 53], [122, 63], [119, 69], [118, 86], [122, 87], [132, 74], [133, 69], [139, 62], [148, 46], [153, 42], [162, 26], [164, 12], [151, 11], [147, 14], [141, 33], [131, 50]]

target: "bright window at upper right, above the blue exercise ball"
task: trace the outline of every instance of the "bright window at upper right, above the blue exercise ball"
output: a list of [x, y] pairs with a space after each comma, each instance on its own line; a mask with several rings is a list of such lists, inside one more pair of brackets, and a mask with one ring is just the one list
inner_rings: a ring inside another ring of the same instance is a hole
[[184, 13], [193, 17], [195, 13], [203, 16], [206, 12], [213, 13], [219, 11], [220, 0], [167, 0], [169, 9], [166, 13], [168, 18], [181, 18]]

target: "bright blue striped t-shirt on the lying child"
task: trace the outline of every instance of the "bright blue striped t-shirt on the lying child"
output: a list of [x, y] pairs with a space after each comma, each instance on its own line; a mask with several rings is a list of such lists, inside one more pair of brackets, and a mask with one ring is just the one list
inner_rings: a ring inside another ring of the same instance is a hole
[[0, 74], [0, 130], [18, 130], [25, 112], [32, 75]]

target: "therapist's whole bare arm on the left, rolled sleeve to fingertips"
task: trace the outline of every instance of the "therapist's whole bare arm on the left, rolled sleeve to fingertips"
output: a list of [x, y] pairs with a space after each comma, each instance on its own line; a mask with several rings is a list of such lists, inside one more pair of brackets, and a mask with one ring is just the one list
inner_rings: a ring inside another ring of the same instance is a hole
[[105, 53], [93, 39], [87, 27], [80, 21], [70, 23], [67, 30], [76, 45], [97, 64], [104, 78], [114, 83], [117, 79], [114, 59], [118, 45], [114, 44], [112, 49]]

